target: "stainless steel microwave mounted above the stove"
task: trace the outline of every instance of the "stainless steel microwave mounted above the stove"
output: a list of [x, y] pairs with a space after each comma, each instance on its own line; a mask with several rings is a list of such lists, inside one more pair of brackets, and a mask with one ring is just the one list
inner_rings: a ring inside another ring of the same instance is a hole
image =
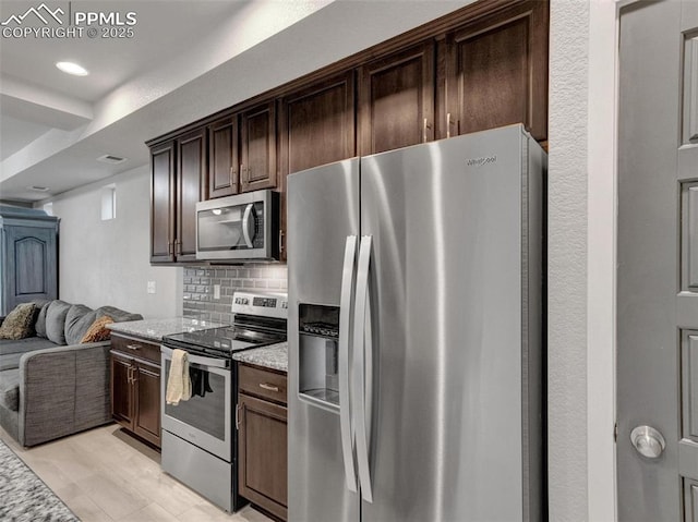
[[279, 194], [256, 191], [196, 204], [196, 258], [279, 257]]

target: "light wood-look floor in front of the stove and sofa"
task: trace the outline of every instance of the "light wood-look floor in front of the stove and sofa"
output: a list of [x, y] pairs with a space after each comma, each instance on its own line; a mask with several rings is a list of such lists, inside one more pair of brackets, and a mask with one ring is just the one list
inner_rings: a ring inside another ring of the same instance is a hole
[[34, 448], [0, 439], [84, 522], [270, 522], [250, 506], [226, 513], [160, 470], [157, 451], [118, 425]]

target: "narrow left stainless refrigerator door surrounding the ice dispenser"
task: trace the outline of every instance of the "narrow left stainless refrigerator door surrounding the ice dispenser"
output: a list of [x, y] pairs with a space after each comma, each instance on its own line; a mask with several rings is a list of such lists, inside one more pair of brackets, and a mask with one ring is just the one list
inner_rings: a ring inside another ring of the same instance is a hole
[[359, 234], [359, 160], [289, 175], [288, 198], [288, 518], [358, 522], [360, 499], [347, 487], [339, 412], [299, 398], [299, 305], [340, 306], [347, 238]]

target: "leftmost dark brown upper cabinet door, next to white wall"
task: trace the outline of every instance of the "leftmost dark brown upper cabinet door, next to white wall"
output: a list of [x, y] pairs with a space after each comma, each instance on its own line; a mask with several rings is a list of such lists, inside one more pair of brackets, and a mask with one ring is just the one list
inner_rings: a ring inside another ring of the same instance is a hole
[[174, 142], [151, 150], [151, 263], [174, 260]]

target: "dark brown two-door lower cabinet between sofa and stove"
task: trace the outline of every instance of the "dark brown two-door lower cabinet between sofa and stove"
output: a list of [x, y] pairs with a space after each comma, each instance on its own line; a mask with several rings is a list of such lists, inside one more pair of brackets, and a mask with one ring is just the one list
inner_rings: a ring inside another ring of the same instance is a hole
[[112, 336], [111, 415], [125, 429], [159, 448], [160, 364], [151, 360], [153, 347], [156, 345]]

